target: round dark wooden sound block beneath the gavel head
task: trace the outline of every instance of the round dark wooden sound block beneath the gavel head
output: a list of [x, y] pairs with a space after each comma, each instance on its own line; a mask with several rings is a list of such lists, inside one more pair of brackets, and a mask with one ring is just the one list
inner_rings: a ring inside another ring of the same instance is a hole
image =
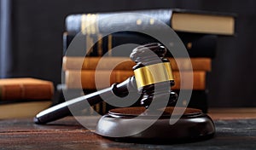
[[[185, 109], [185, 110], [184, 110]], [[146, 111], [144, 107], [127, 107], [110, 110], [99, 120], [96, 133], [121, 141], [168, 141], [183, 142], [211, 138], [215, 133], [212, 119], [199, 109], [166, 107], [160, 118], [155, 111]], [[170, 124], [170, 118], [181, 118]], [[160, 110], [158, 110], [160, 111]], [[140, 118], [137, 116], [140, 115]], [[145, 130], [143, 126], [151, 124]], [[141, 130], [141, 131], [140, 131]]]

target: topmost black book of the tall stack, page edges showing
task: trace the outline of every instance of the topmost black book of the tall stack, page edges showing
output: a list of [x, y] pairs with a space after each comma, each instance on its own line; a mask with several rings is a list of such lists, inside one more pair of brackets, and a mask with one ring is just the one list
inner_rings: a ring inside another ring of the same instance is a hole
[[[176, 32], [234, 35], [235, 14], [190, 9], [148, 9], [99, 14], [70, 14], [66, 18], [69, 34], [97, 34], [117, 31], [163, 30], [162, 24]], [[88, 27], [90, 26], [90, 27]]]

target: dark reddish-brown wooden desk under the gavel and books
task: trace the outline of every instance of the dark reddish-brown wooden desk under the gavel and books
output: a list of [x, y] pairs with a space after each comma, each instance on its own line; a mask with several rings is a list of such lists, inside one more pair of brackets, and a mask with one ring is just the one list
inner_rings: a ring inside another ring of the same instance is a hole
[[170, 145], [110, 141], [73, 117], [48, 125], [33, 124], [32, 118], [0, 120], [0, 149], [255, 149], [256, 108], [212, 109], [210, 116], [217, 130], [214, 138]]

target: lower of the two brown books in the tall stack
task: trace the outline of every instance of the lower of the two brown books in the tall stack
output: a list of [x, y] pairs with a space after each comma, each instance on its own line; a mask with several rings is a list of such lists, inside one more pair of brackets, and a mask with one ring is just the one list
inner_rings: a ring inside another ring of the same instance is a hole
[[[108, 70], [67, 70], [65, 71], [65, 83], [67, 89], [97, 89], [108, 88], [113, 83], [120, 83], [126, 78], [129, 78], [133, 75], [133, 71], [125, 70], [115, 70], [110, 72]], [[195, 71], [193, 72], [193, 89], [206, 89], [206, 73], [204, 71]], [[96, 75], [97, 74], [97, 75]], [[110, 74], [110, 77], [109, 77]], [[183, 89], [191, 89], [188, 84], [186, 84], [186, 79], [189, 77], [191, 72], [183, 72]], [[173, 72], [175, 85], [172, 89], [180, 89], [180, 73], [177, 71]], [[99, 78], [96, 78], [99, 77]]]

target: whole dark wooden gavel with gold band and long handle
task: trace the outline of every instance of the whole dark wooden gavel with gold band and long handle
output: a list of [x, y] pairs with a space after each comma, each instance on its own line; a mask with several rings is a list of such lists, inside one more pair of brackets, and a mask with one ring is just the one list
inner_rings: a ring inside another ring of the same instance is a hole
[[[133, 66], [134, 76], [120, 84], [112, 84], [107, 89], [98, 90], [89, 95], [80, 96], [63, 102], [38, 113], [34, 118], [36, 124], [47, 124], [70, 114], [69, 107], [82, 109], [85, 102], [96, 105], [114, 97], [125, 97], [130, 94], [138, 95], [140, 105], [148, 108], [154, 100], [153, 109], [162, 107], [161, 100], [168, 97], [167, 106], [177, 101], [177, 94], [172, 91], [174, 78], [170, 61], [165, 58], [166, 48], [160, 43], [148, 43], [138, 46], [131, 52], [130, 58], [136, 62]], [[126, 100], [125, 100], [126, 101]], [[129, 101], [129, 100], [127, 100]]]

